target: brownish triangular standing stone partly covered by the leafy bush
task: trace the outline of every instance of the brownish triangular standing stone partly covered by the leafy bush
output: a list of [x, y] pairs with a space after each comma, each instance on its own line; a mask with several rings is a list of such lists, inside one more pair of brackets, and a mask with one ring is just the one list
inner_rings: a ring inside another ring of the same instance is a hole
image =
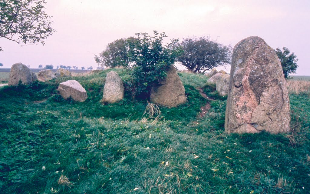
[[167, 70], [166, 79], [151, 89], [151, 102], [154, 104], [175, 107], [186, 102], [185, 89], [173, 66]]

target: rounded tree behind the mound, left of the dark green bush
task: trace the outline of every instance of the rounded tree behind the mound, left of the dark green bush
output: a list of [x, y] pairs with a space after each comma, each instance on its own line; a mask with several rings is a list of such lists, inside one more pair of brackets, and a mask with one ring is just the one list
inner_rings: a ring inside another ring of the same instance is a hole
[[111, 67], [116, 66], [127, 67], [129, 64], [128, 61], [128, 50], [129, 43], [136, 41], [135, 38], [121, 38], [115, 40], [111, 43], [108, 43], [108, 46], [102, 51], [99, 56], [95, 55], [95, 61], [98, 65], [102, 67]]

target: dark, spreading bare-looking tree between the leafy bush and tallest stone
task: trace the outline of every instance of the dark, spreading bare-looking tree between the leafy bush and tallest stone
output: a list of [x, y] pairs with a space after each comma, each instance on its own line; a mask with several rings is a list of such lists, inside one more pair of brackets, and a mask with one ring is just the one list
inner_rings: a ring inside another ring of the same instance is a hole
[[184, 52], [177, 58], [177, 61], [193, 73], [204, 73], [231, 62], [232, 47], [224, 46], [208, 37], [183, 38], [180, 46]]

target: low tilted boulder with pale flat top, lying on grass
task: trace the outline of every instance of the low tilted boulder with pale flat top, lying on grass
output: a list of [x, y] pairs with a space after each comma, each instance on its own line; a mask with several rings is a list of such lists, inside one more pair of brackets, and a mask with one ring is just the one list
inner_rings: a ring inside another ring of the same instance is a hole
[[84, 102], [87, 99], [86, 90], [76, 80], [60, 83], [57, 90], [64, 99], [72, 97], [74, 101], [78, 102]]

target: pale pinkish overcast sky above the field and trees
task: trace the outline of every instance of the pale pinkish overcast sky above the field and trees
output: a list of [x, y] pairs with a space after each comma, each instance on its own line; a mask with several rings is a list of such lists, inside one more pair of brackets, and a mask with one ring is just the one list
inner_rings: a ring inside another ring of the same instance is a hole
[[166, 32], [168, 39], [210, 35], [234, 46], [259, 36], [272, 48], [287, 47], [297, 55], [297, 75], [310, 75], [308, 0], [47, 0], [46, 12], [57, 30], [46, 45], [20, 47], [0, 38], [0, 62], [37, 68], [52, 64], [97, 67], [94, 55], [119, 38], [137, 32]]

